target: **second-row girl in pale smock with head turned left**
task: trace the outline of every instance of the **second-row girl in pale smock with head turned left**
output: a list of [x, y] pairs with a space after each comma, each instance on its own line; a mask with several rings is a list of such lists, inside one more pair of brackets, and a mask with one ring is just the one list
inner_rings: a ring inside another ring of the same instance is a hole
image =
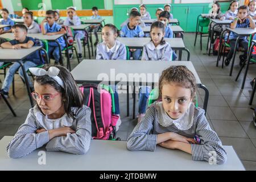
[[[96, 59], [101, 60], [126, 60], [127, 52], [125, 44], [122, 44], [117, 40], [118, 30], [113, 24], [106, 24], [102, 28], [102, 40], [103, 42], [97, 45]], [[121, 125], [120, 110], [119, 110], [119, 98], [117, 92], [117, 86], [112, 85], [115, 99], [115, 113], [119, 116], [117, 121], [116, 130], [118, 131]]]

